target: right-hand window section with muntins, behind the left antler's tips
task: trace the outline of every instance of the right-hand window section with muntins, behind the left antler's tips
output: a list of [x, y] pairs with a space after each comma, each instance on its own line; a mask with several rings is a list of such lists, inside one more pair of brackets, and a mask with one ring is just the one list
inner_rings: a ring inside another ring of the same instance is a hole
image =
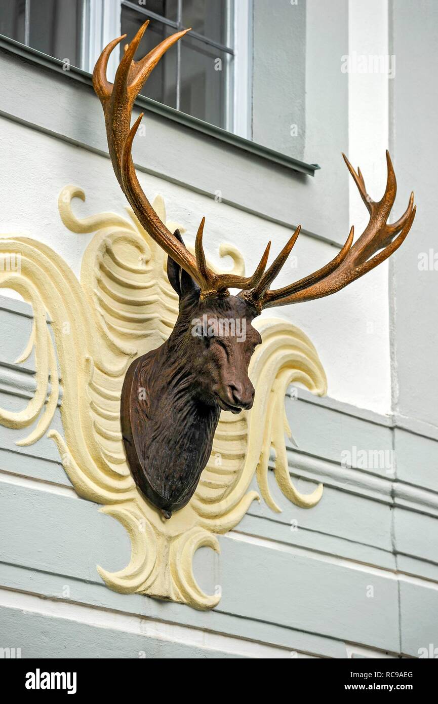
[[[123, 0], [122, 34], [131, 37], [144, 20], [149, 19], [144, 34], [148, 42], [146, 51], [168, 34], [192, 27], [192, 32], [178, 42], [175, 51], [163, 56], [142, 94], [230, 130], [230, 73], [234, 49], [230, 40], [229, 11], [229, 0], [144, 0], [142, 4]], [[123, 47], [120, 56], [122, 52]], [[142, 55], [144, 53], [143, 45]], [[154, 76], [160, 65], [161, 70]]]

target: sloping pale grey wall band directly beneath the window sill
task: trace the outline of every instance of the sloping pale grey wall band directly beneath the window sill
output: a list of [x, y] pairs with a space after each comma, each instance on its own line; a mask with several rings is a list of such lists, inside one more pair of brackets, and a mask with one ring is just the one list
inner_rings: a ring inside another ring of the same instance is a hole
[[[101, 106], [90, 86], [71, 80], [65, 75], [68, 72], [42, 70], [1, 47], [0, 71], [3, 118], [109, 159]], [[35, 83], [44, 103], [27, 98]], [[20, 91], [14, 93], [17, 84]], [[45, 103], [51, 104], [51, 111], [46, 111]], [[138, 111], [139, 106], [134, 117]], [[134, 144], [133, 160], [139, 171], [210, 199], [217, 198], [219, 190], [225, 205], [288, 230], [301, 224], [303, 234], [336, 249], [343, 246], [343, 233], [350, 227], [348, 213], [338, 208], [327, 219], [318, 180], [152, 111], [146, 111], [144, 127], [155, 139]], [[31, 135], [23, 137], [25, 142], [31, 139]], [[335, 168], [339, 177], [340, 159]]]

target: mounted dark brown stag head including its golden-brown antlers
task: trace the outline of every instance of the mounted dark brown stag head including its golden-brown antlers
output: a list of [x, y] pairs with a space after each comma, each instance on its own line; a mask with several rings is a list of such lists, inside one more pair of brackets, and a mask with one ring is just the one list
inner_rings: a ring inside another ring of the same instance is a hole
[[[270, 243], [250, 277], [211, 271], [202, 244], [204, 219], [193, 256], [180, 232], [170, 232], [156, 215], [132, 162], [132, 141], [142, 120], [139, 115], [130, 127], [134, 100], [165, 51], [189, 31], [173, 34], [136, 62], [134, 54], [148, 24], [125, 46], [114, 84], [106, 78], [108, 58], [125, 35], [106, 46], [94, 68], [93, 84], [104, 107], [115, 175], [139, 222], [168, 254], [168, 278], [180, 299], [173, 332], [161, 347], [132, 362], [121, 398], [123, 439], [134, 480], [142, 494], [170, 518], [194, 494], [211, 454], [220, 410], [239, 413], [252, 406], [254, 387], [248, 367], [254, 348], [261, 343], [251, 325], [254, 318], [264, 308], [334, 294], [375, 268], [399, 249], [411, 229], [415, 207], [411, 194], [406, 212], [388, 225], [396, 196], [389, 153], [387, 187], [378, 202], [368, 196], [361, 170], [356, 173], [344, 156], [370, 213], [368, 225], [354, 244], [351, 227], [330, 263], [276, 290], [270, 284], [287, 260], [300, 227], [268, 269]], [[231, 296], [230, 288], [241, 290]]]

